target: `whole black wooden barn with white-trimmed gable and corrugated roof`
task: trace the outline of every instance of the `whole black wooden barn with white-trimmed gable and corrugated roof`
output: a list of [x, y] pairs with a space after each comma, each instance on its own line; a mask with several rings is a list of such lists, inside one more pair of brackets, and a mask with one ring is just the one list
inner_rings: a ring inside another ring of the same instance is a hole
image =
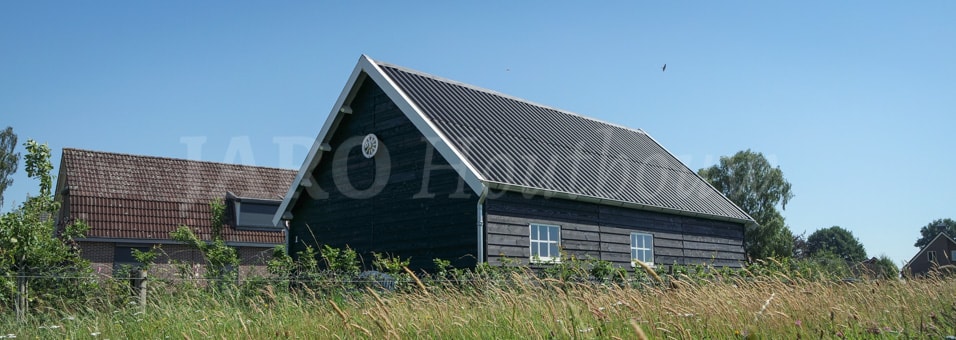
[[280, 219], [293, 254], [348, 246], [366, 265], [379, 252], [425, 269], [569, 256], [738, 267], [754, 223], [644, 131], [365, 56]]

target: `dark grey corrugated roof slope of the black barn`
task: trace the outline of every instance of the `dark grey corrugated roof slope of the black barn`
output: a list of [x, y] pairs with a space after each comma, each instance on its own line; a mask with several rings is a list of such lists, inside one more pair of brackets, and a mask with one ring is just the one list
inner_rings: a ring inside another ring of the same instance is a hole
[[641, 130], [399, 66], [379, 67], [487, 182], [752, 220]]

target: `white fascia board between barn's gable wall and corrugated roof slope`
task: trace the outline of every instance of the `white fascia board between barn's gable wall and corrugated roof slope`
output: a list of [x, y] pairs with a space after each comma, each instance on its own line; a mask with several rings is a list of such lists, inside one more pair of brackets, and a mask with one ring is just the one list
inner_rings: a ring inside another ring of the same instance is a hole
[[435, 147], [435, 150], [437, 150], [442, 157], [445, 157], [448, 164], [458, 172], [461, 178], [465, 179], [465, 183], [468, 184], [471, 190], [474, 191], [475, 194], [480, 194], [484, 190], [483, 183], [485, 179], [481, 177], [478, 171], [475, 170], [476, 168], [468, 162], [462, 153], [449, 142], [450, 139], [442, 134], [431, 120], [425, 117], [421, 108], [412, 102], [412, 99], [398, 87], [398, 84], [395, 84], [391, 78], [385, 75], [385, 72], [378, 67], [375, 61], [363, 55], [359, 64], [367, 64], [369, 78], [372, 78], [375, 84], [378, 84], [378, 87], [395, 103], [395, 106], [405, 113], [405, 117], [408, 117], [408, 119], [412, 121], [412, 124], [418, 128], [418, 131]]

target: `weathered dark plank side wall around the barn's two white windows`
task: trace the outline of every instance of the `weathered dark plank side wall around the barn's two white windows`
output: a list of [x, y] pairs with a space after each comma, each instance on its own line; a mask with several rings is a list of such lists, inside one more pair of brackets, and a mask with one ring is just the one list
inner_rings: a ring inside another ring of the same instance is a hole
[[531, 223], [561, 226], [566, 255], [590, 256], [623, 267], [630, 267], [632, 232], [654, 235], [656, 264], [739, 267], [744, 261], [743, 225], [731, 222], [542, 196], [526, 198], [518, 193], [490, 195], [485, 219], [492, 264], [501, 263], [502, 258], [529, 262]]

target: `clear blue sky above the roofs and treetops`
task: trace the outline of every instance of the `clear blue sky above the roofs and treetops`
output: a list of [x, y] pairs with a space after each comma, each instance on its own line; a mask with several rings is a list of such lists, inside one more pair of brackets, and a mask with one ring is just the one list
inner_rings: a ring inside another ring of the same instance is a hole
[[[3, 1], [0, 128], [57, 169], [64, 147], [298, 169], [366, 54], [642, 129], [691, 169], [761, 152], [796, 234], [838, 225], [901, 264], [956, 218], [953, 18], [953, 1]], [[2, 211], [38, 191], [22, 161], [13, 178]]]

